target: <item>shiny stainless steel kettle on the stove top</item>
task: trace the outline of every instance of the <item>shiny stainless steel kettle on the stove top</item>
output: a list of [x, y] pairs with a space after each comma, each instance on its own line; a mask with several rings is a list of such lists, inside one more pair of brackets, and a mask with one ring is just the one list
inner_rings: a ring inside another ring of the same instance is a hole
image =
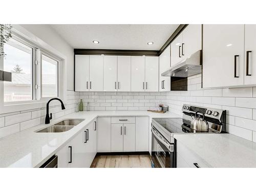
[[[200, 113], [200, 115], [198, 115]], [[201, 115], [202, 114], [202, 115]], [[202, 116], [202, 118], [201, 118]], [[190, 128], [198, 132], [208, 132], [209, 124], [204, 120], [204, 113], [202, 111], [197, 111], [195, 116], [191, 116], [193, 119], [190, 122]]]

